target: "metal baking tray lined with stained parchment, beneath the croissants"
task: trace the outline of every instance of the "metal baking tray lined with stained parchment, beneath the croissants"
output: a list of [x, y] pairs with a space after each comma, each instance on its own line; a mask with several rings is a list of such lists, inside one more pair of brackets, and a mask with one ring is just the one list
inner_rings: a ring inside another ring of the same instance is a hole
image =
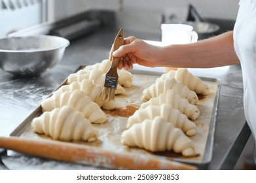
[[[86, 67], [86, 65], [79, 66], [75, 70], [74, 73], [76, 73], [80, 69], [83, 69], [84, 67]], [[152, 72], [152, 71], [137, 71], [137, 70], [132, 70], [130, 72], [134, 76], [133, 86], [135, 88], [140, 87], [139, 88], [140, 92], [144, 88], [147, 88], [151, 84], [153, 84], [153, 82], [155, 82], [155, 79], [163, 74], [163, 73]], [[139, 79], [136, 80], [136, 77], [138, 77]], [[198, 108], [200, 109], [200, 116], [198, 118], [202, 117], [202, 120], [206, 119], [206, 120], [208, 120], [208, 123], [202, 124], [202, 122], [198, 122], [198, 124], [196, 124], [197, 128], [198, 128], [197, 131], [200, 132], [200, 133], [198, 133], [199, 134], [198, 137], [196, 137], [196, 136], [190, 137], [192, 139], [192, 141], [196, 141], [196, 142], [202, 141], [202, 142], [197, 142], [198, 144], [200, 144], [200, 154], [198, 156], [196, 156], [194, 158], [185, 158], [179, 154], [175, 154], [174, 152], [152, 153], [152, 152], [147, 152], [146, 150], [141, 150], [139, 148], [126, 148], [125, 146], [120, 144], [120, 141], [115, 142], [115, 143], [112, 143], [112, 142], [104, 143], [104, 141], [109, 141], [109, 139], [107, 139], [107, 137], [105, 137], [105, 133], [106, 132], [109, 133], [109, 131], [111, 131], [111, 134], [109, 135], [109, 137], [111, 137], [110, 139], [113, 139], [113, 137], [116, 137], [112, 141], [118, 141], [118, 139], [120, 139], [121, 132], [125, 129], [125, 126], [126, 126], [125, 122], [127, 121], [127, 118], [124, 118], [124, 117], [115, 118], [116, 116], [113, 117], [112, 115], [109, 115], [109, 113], [107, 111], [105, 111], [105, 112], [107, 114], [108, 120], [111, 118], [109, 120], [109, 121], [111, 121], [111, 122], [109, 122], [109, 124], [113, 124], [112, 123], [113, 119], [116, 121], [118, 120], [118, 122], [115, 125], [94, 124], [94, 125], [97, 125], [98, 129], [101, 131], [107, 130], [107, 131], [103, 131], [103, 133], [100, 133], [100, 135], [102, 137], [100, 137], [99, 139], [101, 139], [102, 142], [95, 142], [95, 143], [76, 142], [76, 143], [79, 143], [81, 145], [100, 146], [103, 149], [105, 148], [107, 150], [109, 150], [109, 149], [113, 150], [113, 152], [120, 151], [120, 153], [128, 152], [128, 153], [156, 156], [157, 158], [170, 159], [172, 161], [179, 161], [182, 163], [189, 163], [191, 165], [196, 165], [199, 169], [206, 169], [206, 166], [208, 165], [208, 163], [210, 163], [212, 154], [213, 154], [215, 124], [216, 124], [216, 116], [217, 116], [217, 104], [219, 101], [219, 92], [220, 92], [220, 88], [221, 88], [221, 81], [217, 78], [206, 78], [206, 77], [200, 77], [200, 78], [204, 82], [208, 83], [208, 85], [210, 85], [210, 88], [213, 91], [213, 94], [208, 99], [203, 99], [202, 96], [201, 97], [199, 96], [200, 101], [207, 101], [207, 100], [209, 100], [209, 101], [207, 102], [208, 103], [207, 104], [208, 112], [205, 112], [203, 110], [204, 108], [206, 108], [204, 106], [204, 104], [200, 107], [200, 103], [198, 103]], [[58, 90], [58, 88], [63, 86], [66, 83], [66, 81], [67, 81], [67, 78], [54, 91]], [[139, 82], [139, 83], [137, 83], [137, 82]], [[141, 85], [143, 87], [141, 87]], [[147, 85], [147, 86], [145, 86], [145, 85]], [[127, 90], [129, 90], [129, 88]], [[130, 92], [132, 90], [134, 90], [134, 89], [131, 88]], [[128, 93], [129, 93], [129, 91], [128, 91]], [[50, 97], [51, 95], [52, 95], [52, 93], [50, 93], [50, 95], [48, 97]], [[134, 96], [134, 93], [130, 93], [130, 95]], [[121, 101], [120, 105], [127, 105], [129, 103], [133, 103], [135, 105], [140, 105], [141, 101], [138, 100], [138, 98], [140, 99], [140, 96], [141, 96], [141, 93], [137, 93], [137, 98], [136, 97], [129, 98], [129, 97], [127, 97], [127, 95], [120, 95], [120, 96], [116, 97], [116, 100], [117, 100], [117, 103], [119, 103], [118, 101]], [[35, 108], [35, 110], [33, 110], [33, 112], [31, 112], [31, 114], [29, 114], [29, 116], [27, 116], [27, 118], [20, 125], [18, 125], [18, 127], [16, 127], [16, 129], [14, 129], [14, 131], [12, 131], [12, 133], [10, 133], [10, 136], [28, 137], [31, 139], [48, 138], [48, 137], [43, 137], [42, 135], [37, 135], [31, 131], [31, 121], [33, 120], [33, 118], [40, 116], [42, 113], [43, 112], [41, 111], [41, 105], [39, 105], [37, 108]]]

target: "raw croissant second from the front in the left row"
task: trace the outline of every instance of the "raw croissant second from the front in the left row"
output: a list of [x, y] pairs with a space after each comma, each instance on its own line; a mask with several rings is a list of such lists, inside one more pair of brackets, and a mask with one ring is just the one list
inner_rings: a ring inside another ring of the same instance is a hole
[[64, 93], [56, 93], [42, 102], [42, 110], [50, 111], [54, 108], [70, 105], [76, 110], [79, 110], [84, 115], [84, 118], [95, 124], [101, 124], [107, 120], [107, 116], [101, 110], [100, 106], [92, 101], [86, 93], [81, 90], [73, 92], [66, 91]]

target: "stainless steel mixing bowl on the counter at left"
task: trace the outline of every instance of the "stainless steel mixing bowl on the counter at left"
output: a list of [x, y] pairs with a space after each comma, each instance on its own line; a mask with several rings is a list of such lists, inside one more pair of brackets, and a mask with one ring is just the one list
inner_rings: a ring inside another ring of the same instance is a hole
[[54, 67], [67, 46], [67, 39], [50, 35], [0, 39], [0, 67], [16, 76], [37, 76]]

